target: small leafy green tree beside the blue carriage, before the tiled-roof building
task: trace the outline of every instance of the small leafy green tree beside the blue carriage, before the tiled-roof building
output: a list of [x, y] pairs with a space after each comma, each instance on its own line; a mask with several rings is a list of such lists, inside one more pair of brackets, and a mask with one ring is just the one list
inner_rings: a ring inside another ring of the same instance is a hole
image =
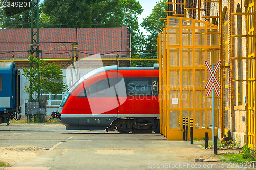
[[[62, 94], [66, 91], [67, 85], [63, 82], [63, 75], [60, 66], [55, 63], [46, 63], [44, 60], [38, 59], [36, 56], [29, 56], [29, 63], [31, 67], [23, 68], [24, 77], [30, 80], [30, 85], [25, 86], [24, 91], [31, 95], [38, 91], [40, 94], [51, 93], [52, 95]], [[38, 79], [40, 75], [40, 79]], [[38, 99], [38, 98], [37, 98]], [[40, 96], [40, 104], [48, 99], [42, 100]]]

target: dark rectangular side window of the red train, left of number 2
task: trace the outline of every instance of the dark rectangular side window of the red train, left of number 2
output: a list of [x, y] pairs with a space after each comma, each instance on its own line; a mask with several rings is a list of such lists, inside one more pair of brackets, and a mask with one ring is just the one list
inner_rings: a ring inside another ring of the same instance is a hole
[[129, 80], [127, 86], [128, 96], [151, 96], [152, 86], [150, 80]]

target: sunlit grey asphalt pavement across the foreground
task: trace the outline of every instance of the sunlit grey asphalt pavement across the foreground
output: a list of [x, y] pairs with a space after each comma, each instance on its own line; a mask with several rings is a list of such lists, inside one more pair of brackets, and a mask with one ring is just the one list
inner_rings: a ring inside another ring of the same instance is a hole
[[[200, 143], [61, 124], [0, 125], [0, 161], [12, 166], [2, 169], [230, 169]], [[204, 162], [195, 162], [200, 158]]]

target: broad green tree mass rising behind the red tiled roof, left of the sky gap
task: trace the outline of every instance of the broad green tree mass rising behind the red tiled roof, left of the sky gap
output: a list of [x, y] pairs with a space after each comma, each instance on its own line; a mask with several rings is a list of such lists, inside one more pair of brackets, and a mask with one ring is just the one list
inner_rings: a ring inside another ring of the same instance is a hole
[[[41, 4], [44, 27], [121, 27], [131, 32], [132, 50], [139, 50], [138, 15], [143, 11], [136, 0], [45, 0]], [[47, 23], [44, 23], [46, 21]]]

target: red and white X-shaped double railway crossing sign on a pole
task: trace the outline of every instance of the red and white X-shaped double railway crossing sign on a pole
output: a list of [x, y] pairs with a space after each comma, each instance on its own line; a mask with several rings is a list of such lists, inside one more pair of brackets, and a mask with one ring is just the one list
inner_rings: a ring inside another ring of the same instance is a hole
[[[220, 64], [221, 64], [221, 61], [218, 61], [216, 67], [215, 67], [214, 70], [212, 71], [212, 69], [211, 69], [209, 63], [208, 63], [207, 61], [205, 61], [205, 65], [206, 65], [206, 67], [208, 68], [208, 70], [209, 70], [209, 72], [210, 72], [210, 75], [211, 75], [210, 78], [209, 78], [209, 80], [207, 81], [207, 83], [206, 83], [206, 85], [205, 85], [205, 89], [207, 89], [208, 87], [210, 87], [209, 90], [208, 90], [207, 93], [206, 93], [206, 96], [207, 96], [207, 97], [210, 95], [210, 92], [211, 92], [212, 88], [214, 88], [215, 94], [216, 94], [218, 97], [220, 96], [220, 93], [219, 93], [217, 87], [218, 87], [219, 89], [221, 89], [221, 85], [220, 85], [219, 81], [217, 80], [217, 78], [215, 77], [215, 74], [216, 74], [216, 72], [217, 72], [217, 70], [218, 70]], [[213, 81], [211, 82], [211, 80], [213, 80]], [[211, 82], [211, 83], [210, 83], [210, 82]], [[216, 87], [216, 86], [217, 86], [217, 87]]]

